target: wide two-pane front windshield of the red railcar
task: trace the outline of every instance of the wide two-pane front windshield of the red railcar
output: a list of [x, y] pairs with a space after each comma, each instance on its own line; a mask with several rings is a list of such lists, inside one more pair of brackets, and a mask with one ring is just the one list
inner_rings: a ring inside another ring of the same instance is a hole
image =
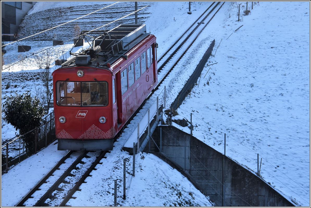
[[60, 106], [107, 106], [108, 83], [69, 82], [56, 83], [57, 105]]

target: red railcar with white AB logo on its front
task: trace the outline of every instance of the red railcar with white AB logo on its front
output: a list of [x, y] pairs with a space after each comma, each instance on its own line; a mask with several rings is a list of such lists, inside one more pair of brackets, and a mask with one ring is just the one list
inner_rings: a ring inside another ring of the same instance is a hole
[[100, 32], [88, 50], [53, 72], [58, 150], [112, 150], [116, 134], [156, 86], [156, 37], [146, 25]]

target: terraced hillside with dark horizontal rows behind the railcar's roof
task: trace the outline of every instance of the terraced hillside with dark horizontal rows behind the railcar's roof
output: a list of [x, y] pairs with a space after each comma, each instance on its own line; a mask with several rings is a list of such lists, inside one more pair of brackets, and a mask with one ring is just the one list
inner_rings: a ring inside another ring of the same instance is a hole
[[[112, 2], [75, 2], [74, 4], [71, 2], [38, 2], [35, 4], [34, 9], [31, 10], [22, 21], [19, 34], [20, 36], [23, 34], [23, 37], [26, 37], [89, 14], [110, 4], [112, 4]], [[138, 9], [150, 4], [152, 5], [153, 3], [138, 2]], [[53, 6], [53, 8], [50, 8], [50, 5]], [[47, 9], [42, 10], [44, 7]], [[81, 19], [72, 21], [66, 25], [62, 25], [53, 30], [49, 30], [48, 32], [38, 34], [29, 39], [52, 40], [55, 33], [58, 40], [68, 40], [74, 38], [74, 26], [76, 24], [79, 25], [81, 30], [91, 30], [105, 25], [111, 21], [117, 20], [125, 15], [132, 13], [133, 11], [135, 11], [134, 2], [119, 2], [113, 6], [107, 7]], [[150, 15], [150, 12], [152, 11], [150, 11], [148, 7], [138, 11], [138, 22], [144, 22], [144, 19]], [[102, 29], [108, 30], [120, 24], [133, 23], [135, 23], [134, 14], [107, 25]]]

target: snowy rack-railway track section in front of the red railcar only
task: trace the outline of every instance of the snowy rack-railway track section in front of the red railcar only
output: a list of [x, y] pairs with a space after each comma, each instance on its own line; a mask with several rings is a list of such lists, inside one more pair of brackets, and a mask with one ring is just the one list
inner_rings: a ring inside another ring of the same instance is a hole
[[65, 206], [106, 151], [69, 151], [16, 206]]

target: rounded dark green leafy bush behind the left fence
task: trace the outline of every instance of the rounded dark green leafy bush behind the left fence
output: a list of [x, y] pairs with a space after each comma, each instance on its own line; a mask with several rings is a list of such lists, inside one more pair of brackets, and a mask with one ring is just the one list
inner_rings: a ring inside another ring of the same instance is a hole
[[[45, 112], [39, 104], [39, 99], [31, 97], [29, 91], [22, 95], [15, 93], [14, 96], [5, 96], [4, 99], [5, 102], [2, 106], [3, 120], [19, 130], [20, 135], [40, 125]], [[22, 139], [25, 142], [27, 153], [31, 155], [34, 152], [35, 131], [26, 134]]]

